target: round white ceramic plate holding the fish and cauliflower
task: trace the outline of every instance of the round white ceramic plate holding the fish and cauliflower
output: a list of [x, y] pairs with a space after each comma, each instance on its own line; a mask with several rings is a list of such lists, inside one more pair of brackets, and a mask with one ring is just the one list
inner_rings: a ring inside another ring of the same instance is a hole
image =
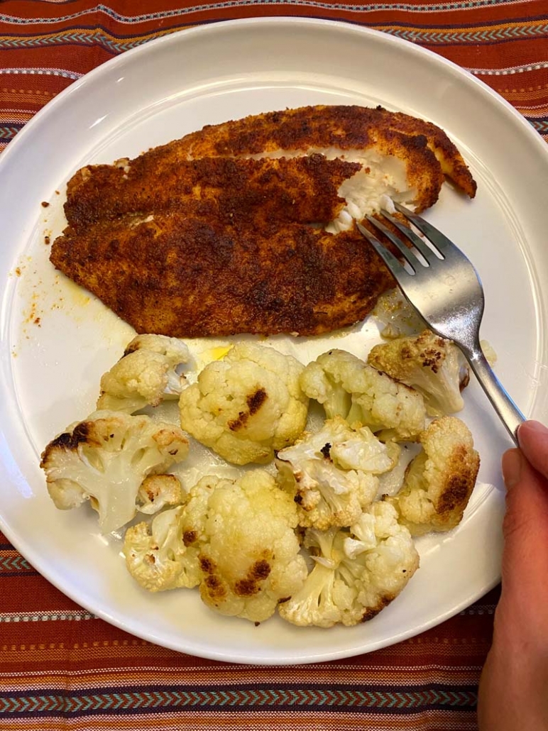
[[[449, 535], [419, 540], [422, 567], [406, 590], [354, 628], [297, 629], [278, 618], [256, 627], [210, 612], [197, 591], [146, 594], [126, 574], [119, 539], [99, 535], [91, 510], [60, 512], [47, 496], [41, 450], [93, 410], [99, 376], [132, 337], [47, 260], [45, 236], [62, 228], [66, 180], [85, 163], [134, 156], [204, 124], [318, 102], [381, 103], [425, 117], [463, 151], [479, 184], [476, 200], [446, 185], [430, 219], [479, 269], [487, 299], [482, 337], [498, 354], [503, 383], [526, 414], [548, 420], [548, 150], [506, 102], [438, 56], [319, 20], [204, 26], [96, 69], [47, 105], [0, 159], [3, 529], [83, 607], [134, 635], [198, 656], [280, 664], [351, 656], [449, 618], [498, 581], [499, 463], [509, 439], [475, 383], [463, 418], [482, 468], [465, 519]], [[354, 333], [336, 342], [364, 355], [377, 337], [366, 323], [359, 339]], [[300, 357], [314, 355], [301, 341], [278, 344]], [[324, 344], [314, 347], [321, 351]]]

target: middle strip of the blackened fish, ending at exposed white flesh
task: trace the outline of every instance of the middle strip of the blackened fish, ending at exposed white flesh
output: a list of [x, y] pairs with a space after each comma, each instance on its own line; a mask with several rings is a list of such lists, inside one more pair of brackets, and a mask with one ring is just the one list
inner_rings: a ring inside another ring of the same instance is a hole
[[156, 164], [153, 153], [113, 165], [83, 167], [70, 179], [64, 206], [72, 230], [129, 213], [146, 216], [215, 202], [217, 216], [263, 221], [327, 223], [345, 200], [340, 184], [358, 163], [314, 154], [296, 159], [203, 158]]

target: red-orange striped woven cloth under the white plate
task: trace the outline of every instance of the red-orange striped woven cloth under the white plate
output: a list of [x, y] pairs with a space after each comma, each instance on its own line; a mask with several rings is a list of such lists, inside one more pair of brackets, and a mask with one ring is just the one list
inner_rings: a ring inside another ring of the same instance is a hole
[[[548, 141], [546, 0], [4, 0], [0, 149], [113, 56], [198, 23], [257, 15], [346, 20], [429, 48], [490, 85]], [[223, 664], [127, 635], [47, 583], [1, 534], [0, 597], [3, 729], [465, 731], [476, 729], [498, 590], [399, 645], [292, 667]]]

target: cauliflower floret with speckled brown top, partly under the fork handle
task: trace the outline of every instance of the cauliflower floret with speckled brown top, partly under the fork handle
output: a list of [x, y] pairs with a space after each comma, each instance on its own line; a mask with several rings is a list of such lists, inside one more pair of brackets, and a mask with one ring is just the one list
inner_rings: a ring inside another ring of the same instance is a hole
[[461, 391], [470, 380], [468, 364], [452, 341], [431, 330], [374, 346], [368, 364], [422, 393], [431, 416], [464, 408]]

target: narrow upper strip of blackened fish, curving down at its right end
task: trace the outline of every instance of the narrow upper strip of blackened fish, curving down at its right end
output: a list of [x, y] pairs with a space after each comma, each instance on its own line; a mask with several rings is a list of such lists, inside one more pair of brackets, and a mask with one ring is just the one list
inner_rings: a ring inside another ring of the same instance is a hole
[[356, 153], [376, 151], [402, 160], [410, 186], [417, 191], [417, 211], [435, 203], [444, 175], [469, 197], [476, 194], [476, 182], [463, 156], [443, 129], [383, 107], [317, 105], [250, 115], [205, 126], [146, 154], [161, 168], [202, 157], [313, 151], [349, 159]]

